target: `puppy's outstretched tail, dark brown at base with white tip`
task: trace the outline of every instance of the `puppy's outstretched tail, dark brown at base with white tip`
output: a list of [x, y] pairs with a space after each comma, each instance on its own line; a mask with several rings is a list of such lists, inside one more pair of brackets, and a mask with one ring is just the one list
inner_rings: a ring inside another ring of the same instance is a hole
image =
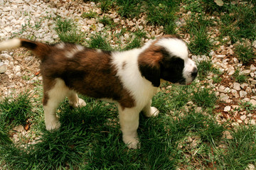
[[50, 45], [26, 39], [14, 38], [0, 42], [0, 51], [11, 50], [17, 47], [26, 47], [28, 50], [33, 51], [40, 60], [45, 59], [51, 50]]

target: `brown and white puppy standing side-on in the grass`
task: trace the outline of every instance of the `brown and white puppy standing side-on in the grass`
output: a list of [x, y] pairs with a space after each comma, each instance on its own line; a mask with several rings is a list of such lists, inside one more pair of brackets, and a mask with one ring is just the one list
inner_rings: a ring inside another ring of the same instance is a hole
[[[78, 94], [117, 102], [123, 141], [137, 148], [139, 113], [156, 116], [151, 107], [161, 79], [191, 84], [196, 64], [188, 58], [186, 42], [174, 35], [151, 40], [144, 47], [124, 52], [95, 50], [60, 42], [47, 45], [25, 39], [0, 43], [0, 51], [15, 47], [32, 50], [41, 60], [46, 129], [60, 127], [55, 110], [65, 97], [73, 107], [85, 106]], [[78, 93], [78, 94], [77, 94]]]

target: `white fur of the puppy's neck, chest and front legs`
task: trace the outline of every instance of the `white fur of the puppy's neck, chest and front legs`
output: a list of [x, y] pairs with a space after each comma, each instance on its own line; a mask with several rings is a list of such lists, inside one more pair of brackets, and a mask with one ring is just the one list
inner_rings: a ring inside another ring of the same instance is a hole
[[[122, 108], [119, 106], [119, 123], [123, 133], [124, 143], [129, 148], [139, 147], [137, 128], [139, 126], [139, 113], [144, 110], [145, 115], [157, 115], [157, 109], [152, 108], [151, 98], [156, 94], [157, 87], [142, 77], [138, 67], [138, 57], [143, 49], [134, 49], [126, 52], [114, 52], [112, 63], [117, 67], [117, 76], [121, 79], [123, 86], [134, 97], [136, 106], [134, 108]], [[122, 67], [125, 63], [125, 67]]]

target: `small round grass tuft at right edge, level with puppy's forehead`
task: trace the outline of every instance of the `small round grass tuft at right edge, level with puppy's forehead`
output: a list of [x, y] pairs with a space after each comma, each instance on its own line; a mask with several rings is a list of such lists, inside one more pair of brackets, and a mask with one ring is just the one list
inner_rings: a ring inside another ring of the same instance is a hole
[[244, 43], [236, 45], [235, 54], [238, 55], [238, 60], [242, 61], [242, 64], [245, 65], [252, 62], [252, 60], [255, 58], [252, 47], [249, 45], [244, 45]]

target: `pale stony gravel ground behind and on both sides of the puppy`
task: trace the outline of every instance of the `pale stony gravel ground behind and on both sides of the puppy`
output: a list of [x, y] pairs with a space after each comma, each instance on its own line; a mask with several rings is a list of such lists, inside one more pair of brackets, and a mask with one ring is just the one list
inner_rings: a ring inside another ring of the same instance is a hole
[[[83, 1], [71, 0], [0, 0], [0, 40], [7, 40], [13, 37], [28, 38], [42, 42], [58, 42], [58, 35], [55, 33], [54, 18], [72, 18], [78, 23], [80, 29], [85, 32], [87, 37], [95, 32], [103, 32], [105, 26], [99, 23], [97, 18], [82, 18], [84, 12], [95, 11], [99, 16], [102, 16], [100, 8], [94, 2], [84, 3]], [[119, 23], [121, 28], [135, 31], [143, 29], [149, 38], [163, 35], [162, 26], [147, 26], [144, 20], [145, 16], [141, 14], [139, 19], [123, 19], [115, 11], [110, 11], [107, 14], [113, 18], [115, 23]], [[177, 21], [177, 25], [185, 24], [183, 17], [189, 13], [182, 13], [181, 18]], [[95, 29], [92, 30], [92, 26]], [[105, 30], [108, 31], [108, 30]], [[120, 31], [119, 29], [116, 30]], [[218, 36], [218, 29], [212, 30], [213, 37]], [[110, 32], [110, 31], [109, 31]], [[111, 33], [110, 33], [111, 34]], [[189, 35], [183, 35], [184, 40], [189, 42]], [[124, 34], [120, 39], [126, 42], [130, 36]], [[228, 40], [228, 37], [226, 38]], [[114, 46], [114, 39], [110, 40], [110, 44]], [[144, 42], [148, 41], [147, 39]], [[215, 42], [218, 44], [219, 42]], [[256, 50], [256, 41], [249, 42]], [[217, 120], [222, 123], [228, 119], [232, 120], [232, 125], [239, 123], [256, 124], [256, 111], [247, 113], [245, 110], [238, 110], [240, 101], [248, 101], [256, 106], [256, 60], [245, 67], [238, 61], [234, 55], [234, 46], [227, 43], [228, 46], [220, 46], [218, 49], [211, 51], [209, 56], [193, 55], [195, 61], [211, 60], [213, 66], [223, 72], [221, 75], [222, 81], [215, 84], [213, 77], [216, 75], [210, 73], [205, 82], [216, 91], [216, 95], [220, 98], [216, 113]], [[41, 84], [41, 76], [38, 74], [39, 63], [31, 52], [18, 49], [13, 51], [3, 51], [0, 54], [0, 96], [9, 96], [10, 94], [20, 93], [21, 91], [33, 91], [38, 84]], [[245, 74], [248, 77], [247, 83], [239, 84], [233, 79], [235, 70]]]

